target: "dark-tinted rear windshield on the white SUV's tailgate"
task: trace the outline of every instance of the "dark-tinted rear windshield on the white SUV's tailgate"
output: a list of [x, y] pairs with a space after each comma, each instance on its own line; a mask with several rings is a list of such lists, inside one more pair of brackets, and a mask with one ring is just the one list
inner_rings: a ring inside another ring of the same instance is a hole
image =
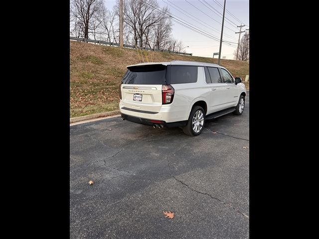
[[164, 65], [129, 67], [122, 79], [122, 84], [165, 85], [165, 73]]

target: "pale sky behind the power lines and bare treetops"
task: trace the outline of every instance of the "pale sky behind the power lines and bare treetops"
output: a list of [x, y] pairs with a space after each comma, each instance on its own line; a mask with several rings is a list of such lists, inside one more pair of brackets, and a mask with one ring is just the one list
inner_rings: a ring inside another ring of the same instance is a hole
[[[116, 1], [118, 0], [105, 0], [105, 3], [109, 9], [112, 9]], [[182, 20], [188, 25], [190, 23], [196, 29], [205, 31], [211, 36], [220, 39], [224, 0], [187, 1], [158, 0], [161, 7], [166, 5], [169, 7], [173, 17]], [[236, 26], [243, 23], [246, 26], [242, 28], [242, 31], [249, 29], [249, 0], [226, 0], [226, 10], [232, 15], [227, 11], [225, 12], [223, 40], [231, 42], [232, 46], [223, 43], [221, 56], [226, 56], [226, 59], [233, 59], [233, 52], [237, 47], [235, 43], [238, 42], [239, 37], [238, 33], [235, 34], [235, 32], [239, 32], [239, 27]], [[241, 34], [241, 37], [243, 34]], [[184, 46], [189, 46], [184, 49], [187, 53], [193, 53], [194, 56], [212, 57], [213, 52], [219, 51], [219, 40], [211, 39], [176, 22], [173, 22], [172, 35], [175, 39], [182, 40]], [[218, 56], [215, 56], [215, 58], [218, 58]]]

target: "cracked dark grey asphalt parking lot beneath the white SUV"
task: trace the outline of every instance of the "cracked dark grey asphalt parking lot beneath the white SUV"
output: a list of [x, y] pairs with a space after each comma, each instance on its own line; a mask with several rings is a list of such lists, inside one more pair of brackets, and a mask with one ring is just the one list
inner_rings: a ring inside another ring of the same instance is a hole
[[209, 120], [195, 137], [120, 117], [70, 126], [70, 238], [249, 238], [243, 147], [249, 93], [242, 116]]

